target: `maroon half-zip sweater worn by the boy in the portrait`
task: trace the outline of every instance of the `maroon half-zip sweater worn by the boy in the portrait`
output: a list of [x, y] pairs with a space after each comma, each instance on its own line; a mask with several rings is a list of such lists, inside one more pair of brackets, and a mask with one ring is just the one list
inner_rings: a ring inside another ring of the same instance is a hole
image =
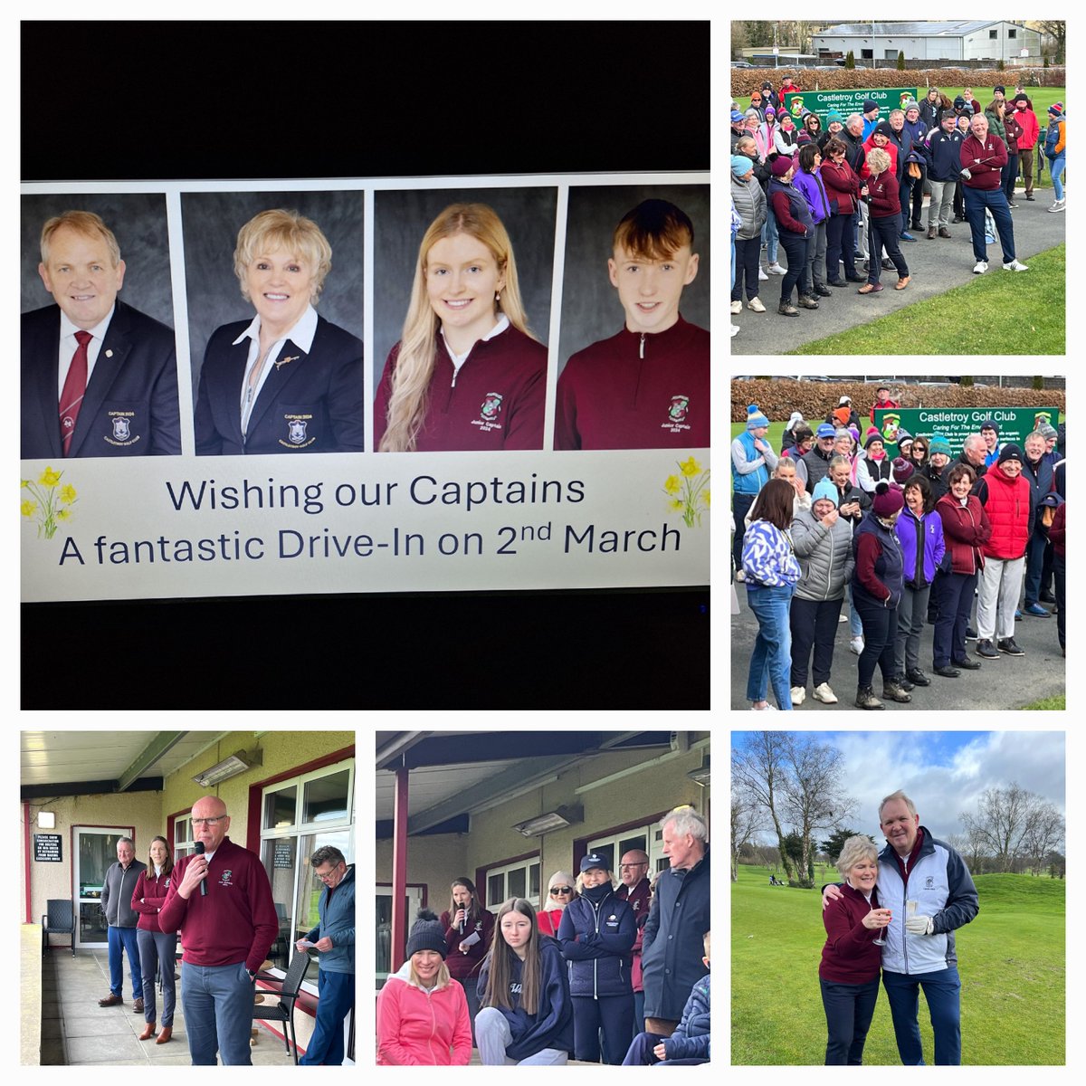
[[557, 400], [555, 449], [708, 449], [709, 333], [623, 327], [570, 357]]

